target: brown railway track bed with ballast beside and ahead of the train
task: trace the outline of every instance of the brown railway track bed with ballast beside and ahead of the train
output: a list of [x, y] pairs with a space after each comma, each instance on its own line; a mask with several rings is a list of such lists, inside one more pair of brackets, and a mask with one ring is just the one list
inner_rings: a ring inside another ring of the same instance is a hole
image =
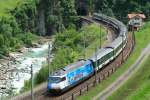
[[[69, 91], [57, 96], [50, 96], [46, 91], [47, 90], [46, 83], [43, 83], [36, 90], [34, 90], [34, 99], [35, 100], [74, 100], [77, 96], [82, 95], [84, 92], [88, 91], [91, 87], [94, 87], [96, 86], [96, 84], [101, 83], [102, 80], [106, 79], [113, 72], [115, 72], [116, 69], [118, 69], [121, 66], [121, 64], [128, 58], [128, 56], [133, 50], [133, 46], [134, 46], [133, 36], [131, 33], [129, 33], [128, 42], [124, 50], [119, 54], [119, 56], [116, 59], [114, 59], [111, 63], [106, 65], [104, 68], [102, 68], [96, 75], [90, 77], [89, 79], [77, 85], [76, 87], [70, 89]], [[30, 92], [28, 92], [21, 96], [12, 98], [11, 100], [31, 100], [31, 94]]]

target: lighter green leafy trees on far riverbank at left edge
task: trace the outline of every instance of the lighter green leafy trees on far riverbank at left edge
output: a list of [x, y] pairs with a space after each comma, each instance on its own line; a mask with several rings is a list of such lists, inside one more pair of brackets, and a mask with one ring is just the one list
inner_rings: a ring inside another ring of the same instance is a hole
[[31, 45], [35, 39], [35, 35], [19, 28], [14, 17], [0, 18], [0, 54], [6, 55], [9, 51], [15, 51], [22, 44]]

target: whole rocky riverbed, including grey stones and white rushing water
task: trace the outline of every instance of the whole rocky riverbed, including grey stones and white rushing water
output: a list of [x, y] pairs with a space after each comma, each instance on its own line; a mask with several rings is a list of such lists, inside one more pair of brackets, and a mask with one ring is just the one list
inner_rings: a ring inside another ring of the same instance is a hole
[[[52, 42], [49, 43], [52, 45]], [[39, 44], [38, 47], [24, 47], [22, 50], [23, 52], [12, 52], [10, 57], [0, 60], [0, 98], [19, 93], [24, 81], [31, 77], [31, 65], [35, 74], [46, 63], [48, 42]]]

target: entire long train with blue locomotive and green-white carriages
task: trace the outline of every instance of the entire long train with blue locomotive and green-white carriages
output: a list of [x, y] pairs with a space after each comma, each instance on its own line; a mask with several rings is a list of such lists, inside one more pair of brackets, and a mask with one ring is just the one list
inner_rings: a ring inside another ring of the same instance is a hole
[[93, 76], [96, 71], [114, 60], [127, 44], [126, 26], [111, 17], [94, 13], [94, 20], [102, 21], [117, 30], [117, 38], [104, 48], [98, 49], [88, 59], [81, 59], [60, 69], [48, 77], [47, 90], [49, 93], [63, 93], [77, 84]]

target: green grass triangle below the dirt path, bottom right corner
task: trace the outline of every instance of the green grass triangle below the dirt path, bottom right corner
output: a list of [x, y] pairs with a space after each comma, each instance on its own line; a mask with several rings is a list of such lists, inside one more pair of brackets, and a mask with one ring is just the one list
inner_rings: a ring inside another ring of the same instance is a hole
[[[150, 98], [149, 58], [141, 68], [119, 88], [108, 100], [146, 100]], [[143, 74], [144, 73], [144, 74]]]

